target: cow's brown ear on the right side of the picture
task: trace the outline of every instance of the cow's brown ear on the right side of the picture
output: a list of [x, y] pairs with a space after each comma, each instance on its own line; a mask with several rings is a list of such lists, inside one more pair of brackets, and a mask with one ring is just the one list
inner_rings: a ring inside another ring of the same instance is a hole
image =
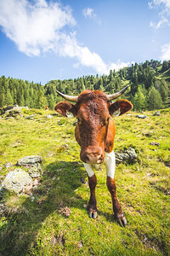
[[109, 111], [110, 114], [113, 115], [115, 112], [119, 112], [118, 115], [122, 115], [123, 113], [127, 113], [127, 111], [133, 108], [133, 104], [128, 102], [127, 100], [118, 100], [110, 105]]

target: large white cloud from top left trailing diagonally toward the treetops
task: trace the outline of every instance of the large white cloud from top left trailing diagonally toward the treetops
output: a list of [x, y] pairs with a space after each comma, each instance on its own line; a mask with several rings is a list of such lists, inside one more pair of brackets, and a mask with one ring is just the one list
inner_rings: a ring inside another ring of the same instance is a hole
[[[88, 16], [94, 10], [88, 10]], [[97, 73], [109, 73], [129, 65], [118, 61], [106, 64], [101, 57], [77, 42], [76, 32], [69, 27], [76, 25], [70, 7], [46, 0], [0, 0], [0, 26], [8, 38], [14, 41], [20, 52], [38, 56], [52, 51], [56, 55], [76, 58], [78, 65], [92, 67]]]

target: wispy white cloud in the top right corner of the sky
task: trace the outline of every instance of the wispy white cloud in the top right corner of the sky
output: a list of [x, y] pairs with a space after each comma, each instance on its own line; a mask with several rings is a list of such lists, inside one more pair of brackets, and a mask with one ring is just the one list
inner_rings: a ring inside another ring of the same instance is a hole
[[150, 9], [159, 9], [159, 21], [150, 21], [150, 27], [158, 29], [164, 25], [170, 26], [170, 0], [151, 0], [149, 3]]

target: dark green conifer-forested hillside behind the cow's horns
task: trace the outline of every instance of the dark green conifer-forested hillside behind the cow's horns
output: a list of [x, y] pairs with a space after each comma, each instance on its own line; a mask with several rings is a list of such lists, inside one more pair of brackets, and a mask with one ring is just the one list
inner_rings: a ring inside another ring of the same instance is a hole
[[122, 96], [133, 102], [134, 110], [154, 110], [170, 107], [170, 61], [145, 61], [132, 64], [109, 75], [98, 74], [77, 79], [51, 80], [47, 84], [34, 84], [21, 79], [0, 78], [0, 108], [18, 104], [29, 108], [54, 109], [59, 102], [56, 90], [78, 95], [82, 90], [103, 90], [114, 93], [130, 85]]

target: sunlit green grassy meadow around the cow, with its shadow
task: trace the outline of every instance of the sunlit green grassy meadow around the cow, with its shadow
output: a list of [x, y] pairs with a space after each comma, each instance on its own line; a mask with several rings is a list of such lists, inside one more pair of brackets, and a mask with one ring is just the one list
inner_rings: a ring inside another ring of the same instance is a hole
[[74, 137], [76, 119], [35, 109], [14, 119], [4, 114], [0, 166], [13, 166], [1, 168], [1, 179], [26, 155], [42, 156], [43, 173], [32, 195], [1, 195], [0, 255], [170, 255], [170, 109], [162, 109], [161, 116], [153, 113], [143, 113], [147, 119], [134, 112], [114, 117], [115, 151], [133, 147], [138, 154], [135, 164], [116, 166], [125, 228], [113, 216], [105, 166], [95, 172], [98, 218], [88, 218], [88, 177]]

